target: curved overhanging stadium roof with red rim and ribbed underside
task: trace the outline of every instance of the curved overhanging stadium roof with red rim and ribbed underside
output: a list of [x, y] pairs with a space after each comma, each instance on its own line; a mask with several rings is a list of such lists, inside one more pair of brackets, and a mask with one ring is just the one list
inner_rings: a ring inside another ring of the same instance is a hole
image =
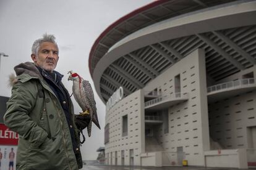
[[[90, 51], [89, 68], [96, 91], [103, 102], [119, 86], [129, 95], [197, 48], [205, 49], [211, 81], [252, 67], [256, 63], [255, 3], [240, 9], [236, 6], [250, 2], [255, 1], [162, 0], [125, 15], [100, 34]], [[227, 6], [230, 11], [216, 13]], [[169, 30], [157, 27], [197, 13], [207, 15], [210, 10], [216, 18], [190, 18], [193, 23], [185, 20], [184, 25]], [[155, 32], [150, 32], [153, 28]], [[107, 57], [108, 62], [102, 60]]]

